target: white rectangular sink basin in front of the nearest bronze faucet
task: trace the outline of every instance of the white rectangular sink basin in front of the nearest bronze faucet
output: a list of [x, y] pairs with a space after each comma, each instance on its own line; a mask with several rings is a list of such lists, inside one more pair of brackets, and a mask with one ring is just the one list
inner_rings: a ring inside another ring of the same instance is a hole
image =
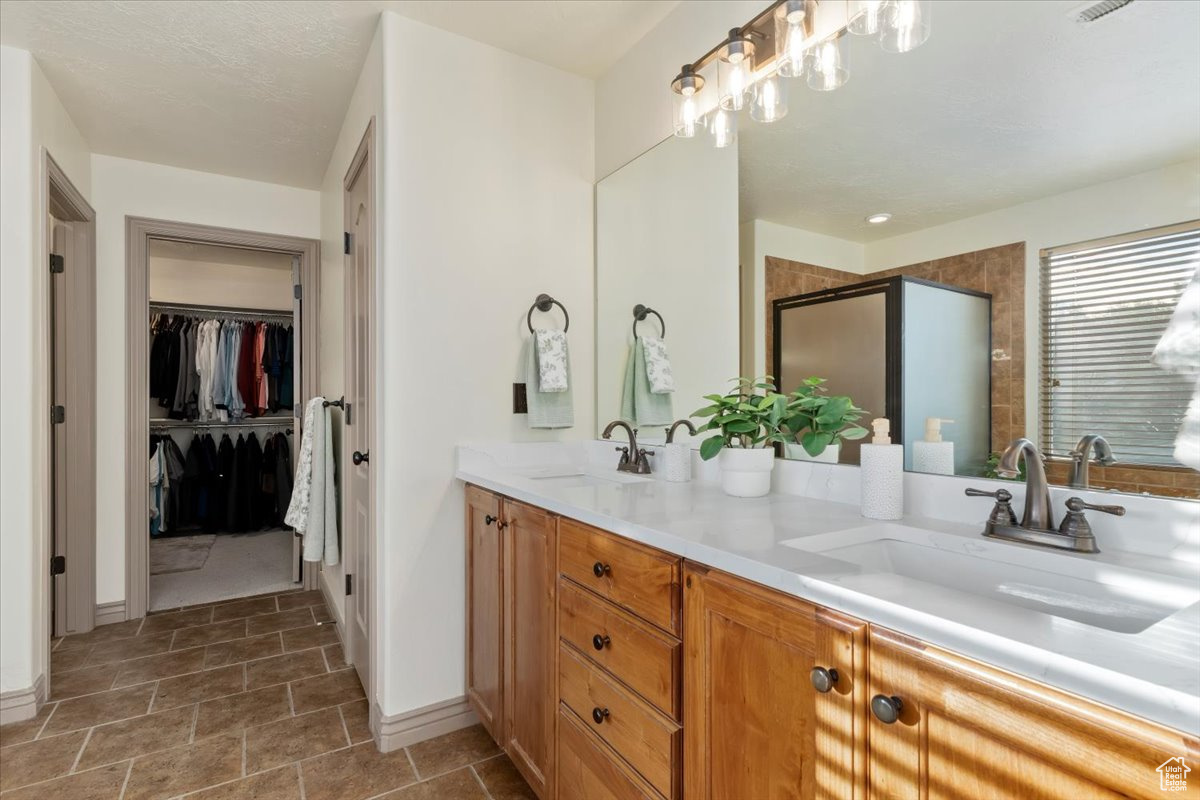
[[784, 545], [1118, 633], [1139, 633], [1200, 601], [1195, 581], [1086, 558], [880, 524]]

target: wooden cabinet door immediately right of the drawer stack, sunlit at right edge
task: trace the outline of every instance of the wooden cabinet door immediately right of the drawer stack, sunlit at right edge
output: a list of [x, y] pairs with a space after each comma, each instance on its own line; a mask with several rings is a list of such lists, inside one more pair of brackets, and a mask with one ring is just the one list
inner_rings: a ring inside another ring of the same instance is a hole
[[683, 594], [684, 798], [862, 798], [865, 625], [692, 564]]

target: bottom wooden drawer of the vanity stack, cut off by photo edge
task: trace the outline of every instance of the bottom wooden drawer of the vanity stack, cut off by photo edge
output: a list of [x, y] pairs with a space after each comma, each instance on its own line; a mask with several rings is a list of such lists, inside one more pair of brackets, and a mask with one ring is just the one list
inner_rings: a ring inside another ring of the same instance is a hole
[[563, 800], [661, 800], [649, 783], [562, 706], [557, 775], [558, 796]]

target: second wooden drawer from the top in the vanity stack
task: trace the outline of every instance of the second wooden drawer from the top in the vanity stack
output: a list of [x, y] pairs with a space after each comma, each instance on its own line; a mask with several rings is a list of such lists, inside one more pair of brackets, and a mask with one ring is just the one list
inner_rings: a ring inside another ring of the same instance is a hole
[[678, 639], [565, 578], [558, 584], [558, 633], [661, 711], [679, 718]]

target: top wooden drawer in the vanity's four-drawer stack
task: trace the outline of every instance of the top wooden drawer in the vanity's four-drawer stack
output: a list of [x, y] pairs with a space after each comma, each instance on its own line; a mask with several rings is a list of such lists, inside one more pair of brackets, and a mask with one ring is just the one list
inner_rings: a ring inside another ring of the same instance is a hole
[[679, 559], [563, 519], [558, 566], [582, 587], [679, 633]]

